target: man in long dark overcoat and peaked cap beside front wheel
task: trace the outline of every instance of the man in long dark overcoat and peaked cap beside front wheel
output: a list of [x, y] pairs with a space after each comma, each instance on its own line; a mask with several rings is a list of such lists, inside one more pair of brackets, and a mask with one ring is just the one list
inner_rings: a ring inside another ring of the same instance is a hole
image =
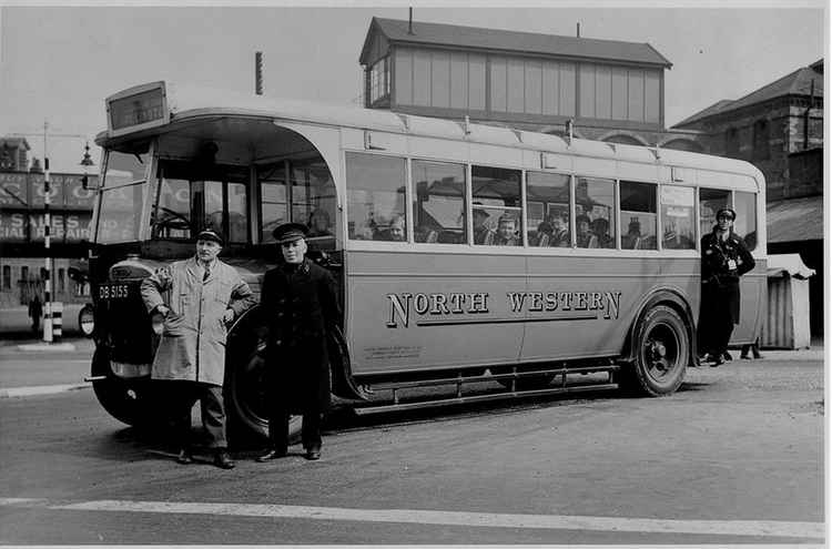
[[263, 278], [271, 448], [257, 461], [286, 455], [290, 414], [303, 414], [306, 458], [321, 458], [321, 416], [329, 406], [327, 331], [339, 322], [341, 306], [332, 274], [306, 257], [306, 231], [300, 223], [274, 230], [283, 263]]

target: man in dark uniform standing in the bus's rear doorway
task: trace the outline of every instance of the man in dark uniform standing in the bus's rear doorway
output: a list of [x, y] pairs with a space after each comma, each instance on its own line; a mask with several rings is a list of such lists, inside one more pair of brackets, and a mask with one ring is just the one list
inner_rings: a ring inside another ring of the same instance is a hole
[[724, 363], [734, 324], [740, 323], [740, 276], [754, 268], [754, 258], [731, 231], [737, 213], [717, 212], [713, 231], [702, 237], [702, 302], [699, 350], [711, 366]]

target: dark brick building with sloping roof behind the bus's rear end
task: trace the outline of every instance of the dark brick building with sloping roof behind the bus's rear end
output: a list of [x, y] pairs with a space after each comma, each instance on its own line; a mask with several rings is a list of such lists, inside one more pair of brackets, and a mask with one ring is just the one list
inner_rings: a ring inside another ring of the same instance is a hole
[[765, 175], [770, 254], [799, 253], [810, 278], [810, 325], [823, 334], [823, 60], [738, 100], [722, 100], [673, 129], [698, 132], [710, 154]]

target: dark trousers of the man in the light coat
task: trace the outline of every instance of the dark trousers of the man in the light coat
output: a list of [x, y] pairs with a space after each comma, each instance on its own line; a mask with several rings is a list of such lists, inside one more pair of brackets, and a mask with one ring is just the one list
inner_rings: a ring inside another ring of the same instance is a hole
[[200, 401], [202, 425], [209, 435], [210, 448], [227, 448], [225, 438], [225, 404], [223, 388], [199, 382], [166, 382], [173, 431], [181, 446], [191, 443], [191, 408]]

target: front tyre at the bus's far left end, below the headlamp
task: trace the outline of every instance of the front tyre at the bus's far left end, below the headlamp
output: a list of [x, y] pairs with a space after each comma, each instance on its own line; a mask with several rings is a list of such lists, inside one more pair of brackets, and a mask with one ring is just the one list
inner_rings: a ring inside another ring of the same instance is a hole
[[101, 406], [119, 421], [135, 427], [149, 425], [149, 410], [153, 401], [150, 379], [124, 380], [115, 377], [110, 368], [110, 354], [104, 347], [97, 347], [92, 355], [93, 377], [105, 376], [105, 379], [92, 382]]

